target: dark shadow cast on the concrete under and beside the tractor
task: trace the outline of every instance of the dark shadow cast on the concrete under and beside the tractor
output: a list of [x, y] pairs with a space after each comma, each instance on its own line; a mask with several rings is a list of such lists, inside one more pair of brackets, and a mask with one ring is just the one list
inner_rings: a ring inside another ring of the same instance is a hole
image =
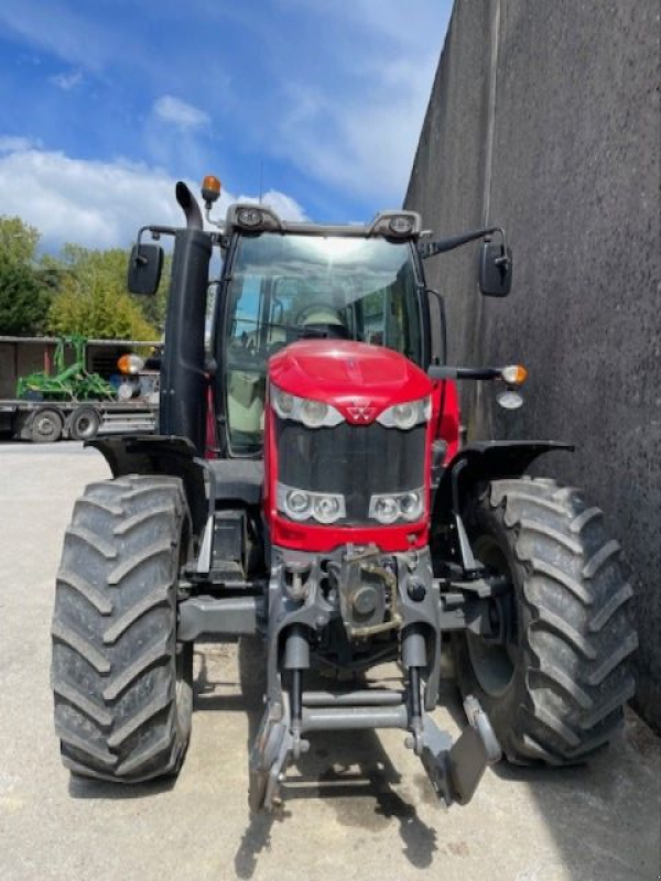
[[[210, 650], [201, 646], [195, 659], [194, 711], [246, 713], [247, 764], [263, 711], [258, 693], [247, 697], [241, 694], [234, 646]], [[446, 724], [465, 727], [462, 701], [453, 682], [443, 683], [441, 705], [451, 717]], [[658, 775], [659, 771], [659, 740], [631, 713], [627, 716], [626, 732], [589, 765], [518, 768], [501, 762], [487, 774], [495, 774], [502, 782], [505, 788], [497, 792], [507, 803], [516, 803], [520, 787], [530, 791], [533, 809], [543, 817], [556, 842], [559, 862], [551, 866], [540, 857], [539, 864], [531, 867], [531, 877], [546, 878], [560, 871], [562, 877], [576, 881], [590, 878], [624, 881], [658, 875], [654, 826], [659, 825], [660, 806], [659, 780], [658, 776], [654, 780], [654, 773]], [[334, 811], [339, 826], [358, 834], [378, 834], [388, 826], [397, 828], [409, 863], [420, 870], [429, 869], [435, 855], [447, 856], [448, 845], [438, 842], [436, 829], [422, 819], [415, 804], [402, 793], [401, 782], [373, 731], [317, 732], [310, 752], [289, 769], [282, 806], [249, 820], [234, 858], [237, 878], [253, 877], [260, 855], [271, 846], [273, 826], [290, 818], [295, 822], [293, 815], [308, 800], [323, 800]], [[444, 809], [424, 774], [421, 772], [411, 783], [419, 787], [416, 798], [438, 812], [434, 825], [441, 829]], [[83, 800], [142, 798], [169, 792], [174, 784], [172, 779], [115, 786], [72, 777], [69, 793]], [[635, 840], [638, 845], [632, 848]], [[457, 856], [454, 851], [452, 855]]]

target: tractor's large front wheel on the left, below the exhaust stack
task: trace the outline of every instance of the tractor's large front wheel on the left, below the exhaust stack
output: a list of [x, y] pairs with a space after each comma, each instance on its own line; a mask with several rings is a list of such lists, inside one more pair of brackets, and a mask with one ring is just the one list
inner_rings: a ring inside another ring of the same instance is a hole
[[175, 774], [193, 707], [193, 646], [176, 641], [189, 515], [177, 478], [121, 477], [78, 499], [57, 573], [55, 730], [74, 774]]

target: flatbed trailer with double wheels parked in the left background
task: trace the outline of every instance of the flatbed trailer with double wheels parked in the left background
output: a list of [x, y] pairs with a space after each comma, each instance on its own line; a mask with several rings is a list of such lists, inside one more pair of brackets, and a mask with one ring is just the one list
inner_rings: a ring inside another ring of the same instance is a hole
[[151, 434], [158, 410], [158, 404], [144, 400], [0, 400], [0, 438], [48, 444], [96, 435]]

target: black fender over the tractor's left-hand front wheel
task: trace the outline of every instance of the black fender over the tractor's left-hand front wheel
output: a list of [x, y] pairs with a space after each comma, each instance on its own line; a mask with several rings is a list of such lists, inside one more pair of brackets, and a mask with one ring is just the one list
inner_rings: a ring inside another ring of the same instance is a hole
[[166, 475], [180, 477], [188, 500], [193, 531], [201, 535], [208, 516], [204, 472], [206, 464], [187, 437], [165, 435], [115, 435], [94, 437], [86, 447], [98, 449], [112, 477]]

